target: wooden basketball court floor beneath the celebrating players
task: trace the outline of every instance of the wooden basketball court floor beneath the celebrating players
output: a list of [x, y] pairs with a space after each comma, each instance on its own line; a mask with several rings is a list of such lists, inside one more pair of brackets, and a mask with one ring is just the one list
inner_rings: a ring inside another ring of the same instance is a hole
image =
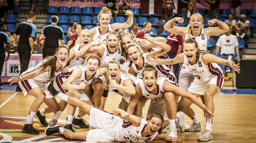
[[[110, 111], [117, 107], [121, 101], [121, 96], [111, 92], [108, 95], [105, 109]], [[57, 100], [59, 100], [57, 98]], [[58, 133], [46, 136], [44, 129], [34, 118], [34, 127], [40, 131], [37, 135], [22, 133], [23, 125], [26, 123], [29, 107], [34, 101], [34, 97], [24, 97], [22, 92], [13, 90], [0, 90], [0, 142], [6, 143], [44, 143], [44, 142], [76, 142], [66, 139]], [[212, 130], [213, 140], [207, 143], [256, 143], [256, 94], [217, 94], [214, 97], [215, 117], [213, 118]], [[149, 102], [144, 107], [146, 116]], [[43, 109], [43, 103], [40, 109]], [[192, 104], [196, 115], [201, 121], [204, 129], [203, 111]], [[66, 109], [60, 116], [58, 124], [65, 125]], [[52, 118], [53, 113], [46, 114], [47, 122]], [[89, 121], [89, 116], [84, 117]], [[191, 124], [192, 121], [185, 115], [185, 122]], [[75, 128], [74, 128], [75, 129]], [[75, 129], [76, 132], [87, 131], [88, 129]], [[197, 137], [200, 132], [178, 132], [178, 137], [184, 143], [198, 143]], [[83, 141], [82, 141], [83, 142]], [[158, 143], [161, 141], [154, 141]]]

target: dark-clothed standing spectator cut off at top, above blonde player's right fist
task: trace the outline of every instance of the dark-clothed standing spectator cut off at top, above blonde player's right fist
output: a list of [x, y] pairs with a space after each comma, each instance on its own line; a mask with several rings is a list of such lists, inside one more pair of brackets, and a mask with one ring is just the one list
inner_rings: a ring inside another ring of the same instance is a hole
[[[220, 0], [205, 0], [211, 7], [211, 19], [220, 19]], [[213, 27], [217, 27], [217, 23], [214, 23]]]

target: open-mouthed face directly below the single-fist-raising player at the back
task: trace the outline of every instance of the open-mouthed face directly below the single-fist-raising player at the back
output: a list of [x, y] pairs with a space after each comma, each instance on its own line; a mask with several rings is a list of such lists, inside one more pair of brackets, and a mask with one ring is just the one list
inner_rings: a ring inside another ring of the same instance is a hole
[[119, 38], [114, 34], [109, 34], [106, 42], [110, 54], [114, 54], [118, 46]]

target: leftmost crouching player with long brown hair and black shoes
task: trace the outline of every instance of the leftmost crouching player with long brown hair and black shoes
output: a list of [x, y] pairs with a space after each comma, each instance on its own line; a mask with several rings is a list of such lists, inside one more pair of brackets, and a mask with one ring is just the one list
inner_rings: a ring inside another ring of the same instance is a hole
[[45, 88], [46, 84], [55, 79], [55, 77], [61, 72], [62, 68], [67, 63], [68, 54], [69, 49], [66, 45], [62, 45], [56, 49], [56, 54], [54, 56], [44, 58], [36, 64], [36, 66], [21, 73], [19, 77], [12, 77], [8, 80], [11, 84], [19, 82], [19, 86], [25, 97], [32, 95], [36, 98], [30, 106], [27, 122], [24, 125], [22, 132], [29, 134], [39, 133], [39, 131], [37, 131], [32, 125], [32, 121], [35, 116], [39, 119], [41, 126], [48, 125], [45, 121], [45, 116], [41, 116], [40, 112], [37, 111], [43, 102], [50, 107], [53, 112], [59, 111], [59, 104], [55, 98], [52, 98], [53, 96], [50, 95]]

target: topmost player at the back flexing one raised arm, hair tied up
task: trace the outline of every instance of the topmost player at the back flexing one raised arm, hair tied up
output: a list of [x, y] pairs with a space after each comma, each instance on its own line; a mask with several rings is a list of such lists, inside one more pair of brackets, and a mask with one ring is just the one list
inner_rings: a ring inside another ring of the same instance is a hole
[[100, 39], [101, 42], [106, 41], [109, 31], [131, 27], [133, 23], [133, 12], [127, 10], [125, 15], [129, 16], [126, 22], [109, 25], [110, 19], [112, 18], [112, 13], [110, 9], [103, 7], [98, 14], [100, 26], [90, 29], [93, 37], [92, 40], [94, 41], [96, 39]]

